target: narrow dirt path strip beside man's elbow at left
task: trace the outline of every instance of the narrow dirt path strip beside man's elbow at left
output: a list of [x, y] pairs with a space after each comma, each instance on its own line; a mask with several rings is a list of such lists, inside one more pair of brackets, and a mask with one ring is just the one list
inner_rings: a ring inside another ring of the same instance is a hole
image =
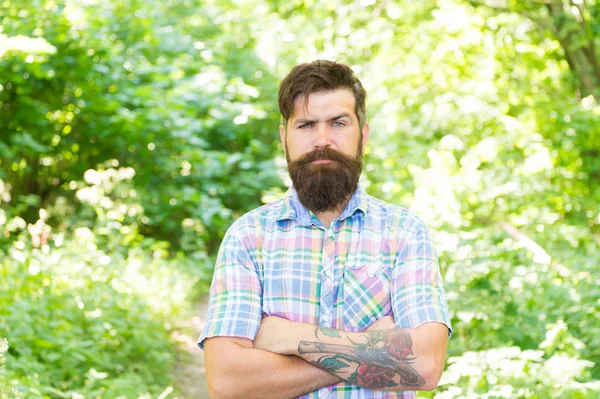
[[175, 333], [180, 351], [177, 353], [174, 374], [179, 399], [209, 399], [204, 372], [204, 352], [196, 341], [204, 328], [208, 299], [196, 307], [196, 316], [184, 325], [183, 333]]

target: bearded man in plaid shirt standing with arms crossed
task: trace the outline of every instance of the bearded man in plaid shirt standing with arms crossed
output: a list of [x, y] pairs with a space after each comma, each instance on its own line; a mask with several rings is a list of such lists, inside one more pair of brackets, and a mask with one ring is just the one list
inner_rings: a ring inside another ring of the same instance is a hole
[[206, 327], [213, 398], [414, 398], [451, 333], [424, 223], [358, 184], [366, 92], [347, 66], [294, 67], [279, 89], [293, 187], [227, 231]]

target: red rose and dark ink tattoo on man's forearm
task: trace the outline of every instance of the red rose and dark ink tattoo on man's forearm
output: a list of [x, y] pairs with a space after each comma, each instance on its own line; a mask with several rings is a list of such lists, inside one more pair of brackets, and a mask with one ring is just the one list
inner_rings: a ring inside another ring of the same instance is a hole
[[[327, 332], [325, 332], [327, 331]], [[335, 331], [337, 335], [328, 334]], [[317, 327], [318, 333], [341, 338], [336, 330]], [[346, 381], [365, 388], [382, 389], [398, 385], [419, 388], [425, 380], [411, 366], [412, 339], [407, 330], [373, 331], [363, 336], [366, 343], [350, 341], [350, 345], [301, 341], [300, 354], [323, 354], [312, 363], [330, 373], [348, 373]]]

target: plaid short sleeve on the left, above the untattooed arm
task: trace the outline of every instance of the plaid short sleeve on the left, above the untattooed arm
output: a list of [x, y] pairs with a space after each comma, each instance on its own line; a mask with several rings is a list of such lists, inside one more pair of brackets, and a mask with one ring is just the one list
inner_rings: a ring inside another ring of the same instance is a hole
[[215, 336], [254, 340], [262, 319], [261, 298], [256, 264], [242, 241], [228, 231], [217, 255], [200, 349], [206, 338]]

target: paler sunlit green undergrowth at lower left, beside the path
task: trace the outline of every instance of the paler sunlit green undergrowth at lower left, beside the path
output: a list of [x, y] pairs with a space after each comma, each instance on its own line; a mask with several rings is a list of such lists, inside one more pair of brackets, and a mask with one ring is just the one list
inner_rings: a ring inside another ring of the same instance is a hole
[[131, 170], [86, 177], [94, 184], [77, 196], [95, 224], [55, 233], [42, 209], [0, 254], [5, 381], [26, 398], [154, 397], [172, 384], [170, 334], [188, 316], [201, 264], [136, 232], [143, 210], [121, 195], [134, 195]]

